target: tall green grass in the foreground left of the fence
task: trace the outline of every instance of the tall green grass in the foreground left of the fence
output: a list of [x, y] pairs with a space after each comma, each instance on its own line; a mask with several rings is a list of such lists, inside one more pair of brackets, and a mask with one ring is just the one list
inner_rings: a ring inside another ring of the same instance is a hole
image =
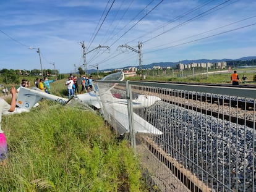
[[0, 191], [142, 191], [126, 140], [93, 112], [51, 103], [3, 116], [9, 157]]

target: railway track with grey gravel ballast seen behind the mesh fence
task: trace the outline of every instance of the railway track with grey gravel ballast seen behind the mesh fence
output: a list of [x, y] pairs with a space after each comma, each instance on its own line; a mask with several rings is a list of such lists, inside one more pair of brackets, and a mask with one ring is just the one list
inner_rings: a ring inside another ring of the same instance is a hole
[[[191, 85], [191, 83], [187, 84]], [[183, 174], [182, 170], [178, 169], [181, 166], [174, 165], [169, 157], [176, 159], [184, 169], [189, 170], [203, 183], [207, 183], [207, 188], [203, 188], [202, 191], [211, 191], [211, 188], [226, 191], [225, 189], [229, 186], [224, 183], [237, 186], [239, 189], [237, 191], [241, 191], [240, 189], [245, 185], [248, 191], [254, 188], [250, 182], [245, 183], [244, 178], [254, 179], [250, 170], [254, 169], [254, 157], [251, 153], [254, 151], [255, 133], [251, 128], [256, 127], [255, 99], [242, 101], [241, 98], [236, 97], [226, 98], [222, 95], [215, 97], [215, 88], [207, 94], [200, 93], [200, 88], [195, 88], [197, 91], [193, 91], [192, 88], [186, 91], [187, 87], [184, 86], [184, 89], [182, 89], [183, 86], [158, 87], [157, 84], [148, 85], [148, 83], [145, 85], [134, 83], [131, 86], [133, 99], [137, 94], [161, 98], [161, 101], [156, 101], [148, 108], [134, 109], [136, 114], [163, 131], [163, 136], [155, 139], [155, 147], [146, 143], [148, 149], [151, 149], [150, 152], [173, 171], [184, 185], [192, 183], [191, 189], [197, 187], [197, 183], [187, 180], [191, 178], [189, 173]], [[120, 93], [122, 98], [126, 98], [124, 85], [116, 85], [115, 88], [118, 89], [117, 93]], [[252, 93], [250, 96], [254, 98], [254, 91], [248, 92]], [[234, 95], [245, 94], [234, 93]], [[163, 149], [164, 152], [160, 153], [156, 149]], [[187, 161], [187, 159], [190, 160]], [[230, 162], [236, 162], [236, 164], [230, 164]], [[246, 168], [244, 162], [250, 162], [246, 164]], [[205, 177], [205, 172], [208, 177]], [[229, 174], [228, 177], [221, 175], [224, 172]], [[236, 173], [237, 180], [233, 180], [234, 173]], [[190, 185], [187, 187], [189, 188]], [[196, 188], [196, 191], [200, 189]]]

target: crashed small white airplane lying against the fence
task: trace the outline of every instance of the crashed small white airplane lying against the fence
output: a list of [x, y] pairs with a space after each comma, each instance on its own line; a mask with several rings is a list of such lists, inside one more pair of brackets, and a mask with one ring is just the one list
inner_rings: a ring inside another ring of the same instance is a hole
[[[101, 79], [101, 81], [106, 80], [122, 81], [124, 80], [124, 73], [113, 73]], [[124, 133], [129, 133], [127, 99], [120, 99], [113, 96], [110, 90], [114, 88], [115, 85], [116, 84], [113, 85], [112, 83], [104, 91], [99, 91], [98, 87], [95, 85], [93, 86], [94, 91], [90, 91], [89, 93], [77, 94], [77, 96], [74, 96], [74, 98], [72, 99], [62, 98], [53, 94], [44, 93], [38, 88], [28, 89], [20, 87], [16, 104], [22, 111], [28, 112], [30, 111], [30, 109], [32, 109], [33, 106], [36, 106], [38, 101], [40, 101], [40, 99], [42, 98], [49, 99], [58, 104], [69, 104], [73, 101], [79, 102], [85, 106], [93, 107], [93, 109], [105, 111], [105, 114], [103, 113], [105, 119], [108, 119], [108, 121], [115, 121], [115, 125], [118, 125], [117, 130], [119, 132], [119, 135], [123, 135]], [[161, 99], [156, 96], [144, 96], [142, 94], [139, 94], [137, 96], [137, 99], [132, 100], [132, 107], [149, 107], [159, 100]], [[148, 123], [139, 115], [133, 113], [133, 118], [135, 133], [141, 133], [146, 135], [163, 134], [160, 130]]]

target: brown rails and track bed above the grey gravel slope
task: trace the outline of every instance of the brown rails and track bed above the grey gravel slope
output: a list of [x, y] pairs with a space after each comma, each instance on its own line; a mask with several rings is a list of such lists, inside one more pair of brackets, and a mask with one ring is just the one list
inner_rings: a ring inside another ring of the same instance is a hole
[[[147, 82], [158, 82], [159, 81], [147, 81]], [[161, 81], [162, 83], [169, 83]], [[187, 84], [187, 85], [204, 85], [204, 86], [218, 86], [218, 87], [233, 87], [232, 85], [226, 84], [206, 84], [206, 83], [179, 83], [179, 84]], [[256, 90], [255, 85], [245, 86], [239, 85], [239, 87], [243, 88], [252, 88]], [[116, 88], [124, 89], [122, 86], [116, 86]], [[228, 120], [229, 122], [238, 123], [239, 125], [246, 125], [250, 128], [256, 128], [256, 122], [254, 117], [255, 112], [255, 101], [252, 99], [244, 100], [239, 98], [230, 98], [229, 96], [219, 96], [213, 94], [197, 94], [191, 93], [191, 91], [184, 90], [169, 90], [162, 88], [150, 88], [145, 93], [145, 91], [141, 90], [137, 86], [132, 87], [133, 93], [137, 94], [152, 94], [154, 96], [158, 96], [162, 99], [162, 101], [167, 102], [169, 104], [174, 104], [176, 106], [184, 107], [189, 110], [197, 111], [202, 114], [211, 115], [218, 119]], [[180, 98], [180, 99], [177, 99]], [[187, 103], [186, 103], [187, 102]], [[203, 107], [202, 107], [203, 106]], [[208, 107], [205, 107], [208, 106]], [[220, 109], [220, 106], [221, 109]], [[223, 108], [223, 109], [222, 109]], [[231, 113], [231, 112], [232, 113]], [[237, 115], [239, 112], [239, 115]], [[246, 116], [246, 118], [245, 118]], [[247, 117], [248, 116], [248, 117]]]

